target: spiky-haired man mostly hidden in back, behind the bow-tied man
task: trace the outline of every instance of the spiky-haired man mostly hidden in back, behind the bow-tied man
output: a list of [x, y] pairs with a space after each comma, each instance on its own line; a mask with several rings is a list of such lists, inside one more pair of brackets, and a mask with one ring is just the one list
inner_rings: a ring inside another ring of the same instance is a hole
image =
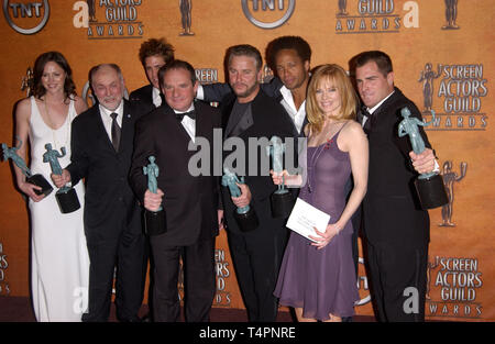
[[140, 60], [150, 85], [131, 92], [129, 100], [146, 114], [164, 104], [160, 90], [158, 69], [174, 60], [174, 47], [165, 38], [150, 38], [140, 47]]

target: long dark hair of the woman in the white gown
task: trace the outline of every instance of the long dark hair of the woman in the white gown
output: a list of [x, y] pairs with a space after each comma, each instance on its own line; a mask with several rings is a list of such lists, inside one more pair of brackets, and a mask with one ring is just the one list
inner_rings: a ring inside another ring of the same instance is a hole
[[45, 66], [47, 63], [54, 62], [65, 71], [65, 82], [64, 82], [64, 95], [65, 98], [69, 98], [70, 96], [76, 96], [76, 85], [73, 80], [73, 69], [70, 68], [67, 59], [58, 52], [47, 52], [37, 56], [34, 62], [34, 70], [33, 70], [33, 89], [30, 96], [34, 96], [36, 98], [41, 98], [46, 93], [46, 89], [43, 87], [42, 77], [43, 71], [45, 70]]

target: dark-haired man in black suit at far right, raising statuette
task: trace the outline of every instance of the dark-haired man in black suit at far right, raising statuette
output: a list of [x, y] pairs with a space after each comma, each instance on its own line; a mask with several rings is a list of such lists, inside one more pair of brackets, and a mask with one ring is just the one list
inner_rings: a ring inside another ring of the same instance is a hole
[[[363, 217], [375, 312], [378, 321], [424, 321], [430, 230], [428, 212], [420, 208], [413, 181], [416, 171], [433, 170], [435, 155], [422, 126], [419, 131], [429, 148], [420, 155], [411, 152], [407, 137], [398, 137], [400, 110], [408, 107], [419, 120], [421, 113], [394, 86], [388, 55], [364, 52], [351, 64], [366, 111], [359, 120], [370, 141]], [[416, 293], [406, 291], [409, 287]]]

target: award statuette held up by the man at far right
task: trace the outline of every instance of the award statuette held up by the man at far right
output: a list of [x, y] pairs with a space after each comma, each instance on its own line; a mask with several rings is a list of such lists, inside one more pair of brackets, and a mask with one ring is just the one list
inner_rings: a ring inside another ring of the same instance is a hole
[[[425, 151], [425, 142], [419, 134], [418, 125], [429, 125], [435, 120], [435, 111], [431, 111], [432, 119], [430, 122], [421, 122], [417, 118], [410, 118], [408, 108], [400, 110], [400, 114], [404, 120], [398, 125], [399, 137], [409, 135], [413, 151], [416, 154], [422, 153]], [[418, 179], [415, 180], [415, 186], [422, 209], [433, 209], [449, 202], [442, 176], [435, 171], [419, 175]]]

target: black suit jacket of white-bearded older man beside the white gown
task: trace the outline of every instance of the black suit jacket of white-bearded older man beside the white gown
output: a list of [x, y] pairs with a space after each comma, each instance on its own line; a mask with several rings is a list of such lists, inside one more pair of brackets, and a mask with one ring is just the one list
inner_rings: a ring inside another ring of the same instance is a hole
[[122, 101], [119, 152], [105, 130], [98, 104], [73, 122], [72, 163], [67, 170], [73, 185], [82, 178], [86, 181], [84, 220], [88, 240], [117, 237], [124, 226], [132, 233], [142, 231], [140, 209], [128, 182], [139, 115], [127, 100]]

